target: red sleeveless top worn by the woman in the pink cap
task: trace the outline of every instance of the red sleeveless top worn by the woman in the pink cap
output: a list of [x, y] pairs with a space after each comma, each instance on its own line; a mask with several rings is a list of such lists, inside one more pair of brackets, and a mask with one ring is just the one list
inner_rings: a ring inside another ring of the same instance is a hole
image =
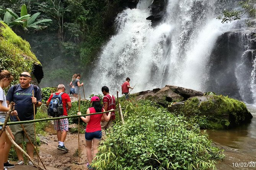
[[[96, 113], [96, 110], [94, 109], [94, 107], [90, 107], [89, 108], [90, 113]], [[102, 111], [103, 112], [103, 109]], [[96, 132], [101, 130], [101, 117], [103, 116], [102, 114], [94, 114], [94, 115], [90, 115], [90, 121], [87, 123], [85, 132]]]

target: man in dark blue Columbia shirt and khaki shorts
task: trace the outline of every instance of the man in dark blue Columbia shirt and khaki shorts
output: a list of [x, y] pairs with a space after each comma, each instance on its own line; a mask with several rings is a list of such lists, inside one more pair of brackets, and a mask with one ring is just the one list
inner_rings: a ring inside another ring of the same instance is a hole
[[[28, 72], [23, 72], [20, 74], [20, 84], [13, 85], [7, 95], [6, 100], [9, 105], [11, 101], [15, 103], [15, 110], [18, 112], [18, 117], [21, 121], [23, 120], [33, 120], [34, 119], [34, 109], [35, 107], [39, 107], [42, 104], [42, 97], [40, 88], [36, 85], [31, 85], [31, 75]], [[32, 91], [34, 90], [34, 97], [32, 96]], [[15, 116], [10, 116], [11, 122], [17, 122]], [[24, 123], [24, 129], [28, 133], [28, 136], [32, 142], [34, 141], [34, 125], [33, 123]], [[17, 143], [21, 148], [22, 141], [26, 142], [26, 149], [29, 157], [33, 159], [34, 157], [34, 148], [33, 145], [26, 138], [26, 135], [21, 128], [21, 125], [10, 125], [13, 136], [15, 137], [15, 143]], [[17, 156], [18, 156], [18, 165], [24, 164], [23, 153], [15, 148]], [[31, 161], [28, 161], [28, 165], [33, 165]]]

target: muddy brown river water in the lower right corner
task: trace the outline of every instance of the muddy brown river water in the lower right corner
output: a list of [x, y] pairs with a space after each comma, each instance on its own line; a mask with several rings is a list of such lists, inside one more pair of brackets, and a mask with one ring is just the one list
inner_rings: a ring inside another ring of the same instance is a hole
[[248, 104], [247, 108], [253, 115], [250, 123], [232, 129], [207, 131], [214, 145], [225, 150], [226, 157], [217, 164], [217, 169], [256, 169], [256, 105]]

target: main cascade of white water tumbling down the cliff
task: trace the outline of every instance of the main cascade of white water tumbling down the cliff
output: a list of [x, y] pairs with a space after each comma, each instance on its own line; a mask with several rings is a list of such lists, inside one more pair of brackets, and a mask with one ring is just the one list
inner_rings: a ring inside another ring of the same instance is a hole
[[100, 93], [106, 85], [115, 94], [126, 77], [131, 86], [136, 84], [134, 92], [166, 84], [204, 91], [212, 48], [218, 36], [235, 25], [222, 24], [216, 16], [235, 2], [169, 0], [166, 16], [154, 27], [146, 20], [151, 3], [140, 0], [136, 9], [118, 14], [116, 35], [104, 45], [93, 69], [91, 93]]

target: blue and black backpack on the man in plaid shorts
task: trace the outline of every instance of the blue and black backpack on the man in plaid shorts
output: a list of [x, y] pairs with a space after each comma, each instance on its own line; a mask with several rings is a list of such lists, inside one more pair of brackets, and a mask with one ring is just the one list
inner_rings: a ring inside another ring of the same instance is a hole
[[61, 95], [64, 92], [59, 93], [59, 95], [56, 95], [56, 93], [52, 94], [52, 99], [50, 101], [49, 107], [47, 109], [48, 115], [52, 117], [59, 117], [60, 115], [63, 115], [63, 106], [62, 106], [62, 98]]

